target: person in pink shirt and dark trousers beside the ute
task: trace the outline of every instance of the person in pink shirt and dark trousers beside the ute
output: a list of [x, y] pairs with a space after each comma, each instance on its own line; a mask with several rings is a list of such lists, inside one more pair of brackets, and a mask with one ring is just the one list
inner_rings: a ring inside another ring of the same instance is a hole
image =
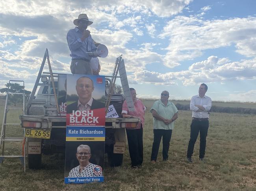
[[146, 107], [141, 100], [136, 98], [136, 91], [130, 88], [132, 100], [134, 102], [135, 112], [128, 110], [126, 100], [122, 105], [122, 116], [124, 118], [140, 118], [141, 122], [138, 123], [136, 128], [126, 128], [127, 140], [132, 167], [138, 168], [142, 166], [143, 162], [143, 126], [145, 121]]

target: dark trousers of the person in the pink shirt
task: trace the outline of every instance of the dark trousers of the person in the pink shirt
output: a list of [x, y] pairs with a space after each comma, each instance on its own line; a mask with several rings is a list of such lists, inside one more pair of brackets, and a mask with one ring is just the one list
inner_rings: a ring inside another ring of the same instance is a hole
[[143, 128], [126, 129], [132, 166], [140, 166], [143, 162]]

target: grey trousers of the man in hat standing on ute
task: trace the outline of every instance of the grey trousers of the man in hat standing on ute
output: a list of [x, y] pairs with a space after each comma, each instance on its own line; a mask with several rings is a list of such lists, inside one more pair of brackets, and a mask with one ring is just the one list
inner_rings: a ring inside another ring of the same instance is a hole
[[71, 61], [70, 70], [72, 74], [88, 74], [93, 75], [93, 70], [89, 66], [89, 62], [80, 59]]

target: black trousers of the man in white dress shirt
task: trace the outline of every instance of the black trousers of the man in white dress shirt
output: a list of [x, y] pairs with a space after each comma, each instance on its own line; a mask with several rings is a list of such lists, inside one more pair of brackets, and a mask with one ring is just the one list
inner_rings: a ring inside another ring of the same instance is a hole
[[198, 133], [200, 132], [200, 149], [199, 158], [204, 158], [206, 147], [206, 136], [209, 128], [209, 120], [192, 120], [190, 125], [190, 139], [187, 147], [187, 158], [193, 155], [195, 142], [197, 141]]

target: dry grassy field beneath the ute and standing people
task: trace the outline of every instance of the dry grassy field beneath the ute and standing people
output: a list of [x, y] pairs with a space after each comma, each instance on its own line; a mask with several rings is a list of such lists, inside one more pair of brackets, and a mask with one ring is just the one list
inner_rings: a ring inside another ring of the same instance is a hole
[[[145, 101], [144, 103], [150, 108], [153, 102]], [[3, 107], [0, 107], [0, 123], [2, 123], [2, 113]], [[10, 120], [15, 120], [15, 113], [12, 115]], [[104, 183], [63, 184], [64, 160], [59, 159], [57, 155], [43, 156], [44, 168], [27, 169], [25, 175], [17, 159], [8, 159], [0, 165], [0, 190], [255, 191], [256, 116], [211, 113], [206, 164], [198, 160], [199, 140], [195, 145], [194, 163], [186, 162], [190, 123], [191, 112], [179, 111], [179, 117], [174, 125], [168, 161], [162, 161], [160, 146], [157, 163], [150, 164], [153, 133], [152, 116], [147, 109], [143, 132], [144, 162], [142, 168], [130, 168], [127, 144], [124, 163], [121, 167], [112, 168], [105, 165]], [[21, 129], [17, 131], [17, 133], [22, 132]], [[19, 152], [20, 149], [18, 145], [7, 147], [8, 152]]]

